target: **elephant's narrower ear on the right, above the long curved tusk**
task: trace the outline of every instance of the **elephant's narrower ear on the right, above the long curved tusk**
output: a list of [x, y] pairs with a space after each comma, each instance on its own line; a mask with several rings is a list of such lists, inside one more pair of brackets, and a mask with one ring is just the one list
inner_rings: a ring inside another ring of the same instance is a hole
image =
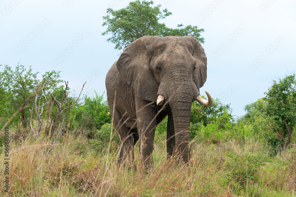
[[207, 56], [202, 45], [196, 38], [193, 36], [186, 36], [184, 38], [188, 39], [193, 45], [193, 57], [196, 59], [196, 69], [193, 72], [192, 79], [198, 91], [200, 91], [200, 88], [207, 80]]

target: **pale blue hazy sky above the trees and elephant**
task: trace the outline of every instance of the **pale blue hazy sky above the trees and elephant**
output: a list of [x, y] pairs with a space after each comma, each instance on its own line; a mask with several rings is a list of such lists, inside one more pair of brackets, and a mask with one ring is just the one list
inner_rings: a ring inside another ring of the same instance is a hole
[[[105, 77], [120, 51], [102, 36], [108, 7], [130, 0], [1, 0], [0, 64], [32, 66], [34, 72], [61, 71], [73, 94], [84, 82], [90, 96], [102, 95]], [[207, 90], [232, 114], [264, 97], [273, 79], [295, 71], [295, 0], [155, 0], [172, 15], [160, 22], [203, 28]], [[3, 66], [0, 66], [3, 70]], [[105, 94], [106, 99], [106, 94]]]

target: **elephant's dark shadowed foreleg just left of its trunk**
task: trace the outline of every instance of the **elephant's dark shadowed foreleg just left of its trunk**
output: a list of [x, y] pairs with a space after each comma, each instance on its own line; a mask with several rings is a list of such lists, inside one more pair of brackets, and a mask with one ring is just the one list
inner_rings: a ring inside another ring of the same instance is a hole
[[175, 128], [172, 113], [168, 113], [168, 124], [167, 124], [167, 158], [173, 156], [174, 148], [176, 145], [175, 141]]

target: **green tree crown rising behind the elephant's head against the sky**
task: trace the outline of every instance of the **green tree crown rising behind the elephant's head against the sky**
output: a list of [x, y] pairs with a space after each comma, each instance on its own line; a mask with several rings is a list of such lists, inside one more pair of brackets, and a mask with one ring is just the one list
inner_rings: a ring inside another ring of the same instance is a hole
[[142, 36], [188, 36], [192, 35], [201, 43], [205, 40], [200, 36], [204, 29], [197, 26], [179, 24], [176, 29], [166, 27], [160, 23], [160, 19], [172, 15], [168, 9], [160, 10], [161, 5], [152, 7], [153, 1], [132, 1], [127, 7], [120, 10], [107, 9], [107, 15], [102, 26], [107, 26], [107, 30], [102, 35], [111, 34], [107, 41], [115, 44], [115, 49], [126, 48], [137, 38]]

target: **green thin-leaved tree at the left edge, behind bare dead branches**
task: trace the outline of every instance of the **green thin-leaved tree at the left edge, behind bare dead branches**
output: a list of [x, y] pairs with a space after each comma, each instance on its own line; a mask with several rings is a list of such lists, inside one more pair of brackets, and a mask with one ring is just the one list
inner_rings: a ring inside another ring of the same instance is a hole
[[[21, 120], [22, 127], [26, 128], [28, 117], [30, 117], [28, 107], [35, 97], [34, 88], [37, 90], [42, 88], [48, 95], [61, 82], [59, 71], [46, 72], [42, 75], [41, 80], [38, 79], [37, 74], [38, 72], [33, 73], [31, 66], [27, 70], [22, 65], [17, 65], [14, 70], [5, 65], [3, 71], [0, 71], [0, 107], [1, 112], [4, 112], [1, 115], [1, 125], [6, 123], [9, 117], [13, 117], [13, 114], [19, 110], [19, 113], [12, 118], [11, 123], [16, 124]], [[42, 92], [39, 93], [42, 95]]]

